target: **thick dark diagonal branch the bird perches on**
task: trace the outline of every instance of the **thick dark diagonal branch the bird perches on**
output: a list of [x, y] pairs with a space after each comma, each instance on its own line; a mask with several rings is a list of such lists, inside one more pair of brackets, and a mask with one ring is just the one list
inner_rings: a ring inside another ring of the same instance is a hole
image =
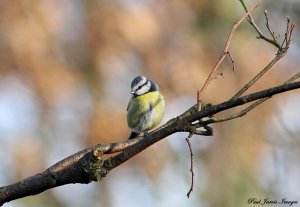
[[[229, 101], [207, 107], [201, 111], [197, 111], [197, 104], [195, 104], [188, 111], [171, 119], [159, 129], [151, 132], [145, 139], [139, 137], [126, 142], [98, 144], [67, 157], [42, 173], [25, 178], [15, 184], [1, 187], [0, 205], [18, 198], [35, 195], [61, 185], [99, 181], [105, 177], [110, 170], [165, 137], [176, 132], [193, 133], [192, 123], [197, 120], [213, 116], [221, 111], [236, 106], [269, 98], [276, 94], [298, 88], [300, 88], [300, 81], [283, 84], [240, 98], [230, 99]], [[121, 153], [104, 160], [103, 154], [118, 151], [121, 151]]]

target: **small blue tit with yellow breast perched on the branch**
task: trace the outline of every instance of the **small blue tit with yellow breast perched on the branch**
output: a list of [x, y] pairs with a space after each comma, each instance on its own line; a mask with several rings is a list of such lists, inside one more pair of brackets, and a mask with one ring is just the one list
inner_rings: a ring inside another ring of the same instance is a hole
[[165, 100], [158, 85], [146, 78], [137, 76], [131, 83], [132, 97], [127, 107], [127, 123], [132, 129], [129, 139], [156, 127], [165, 113]]

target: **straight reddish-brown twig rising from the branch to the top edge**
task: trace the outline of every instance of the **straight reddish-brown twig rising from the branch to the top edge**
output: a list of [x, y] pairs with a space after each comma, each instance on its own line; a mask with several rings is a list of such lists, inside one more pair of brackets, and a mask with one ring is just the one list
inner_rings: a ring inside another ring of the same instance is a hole
[[206, 88], [208, 87], [208, 85], [210, 84], [210, 82], [213, 80], [214, 76], [217, 74], [218, 69], [220, 68], [221, 63], [223, 62], [223, 60], [225, 59], [228, 50], [229, 50], [229, 46], [231, 43], [231, 40], [233, 38], [233, 35], [235, 33], [235, 30], [238, 28], [238, 26], [248, 17], [249, 14], [251, 14], [251, 12], [259, 5], [261, 0], [256, 0], [255, 4], [253, 5], [253, 7], [251, 9], [249, 9], [249, 11], [247, 11], [244, 16], [242, 16], [242, 18], [236, 22], [232, 29], [231, 32], [227, 38], [227, 41], [225, 43], [225, 47], [223, 50], [222, 55], [220, 56], [219, 60], [217, 61], [217, 63], [214, 65], [214, 67], [212, 68], [210, 74], [208, 75], [208, 78], [206, 79], [204, 85], [202, 86], [202, 88], [199, 91], [199, 95], [198, 95], [198, 99], [197, 99], [197, 103], [200, 102], [202, 94], [204, 93], [204, 91], [206, 90]]

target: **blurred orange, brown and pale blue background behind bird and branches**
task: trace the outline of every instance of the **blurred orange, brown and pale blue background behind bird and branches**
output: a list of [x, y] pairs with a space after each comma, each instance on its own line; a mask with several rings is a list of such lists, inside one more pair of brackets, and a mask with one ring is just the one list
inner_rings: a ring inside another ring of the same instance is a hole
[[[300, 24], [299, 1], [266, 0], [253, 14], [265, 33], [265, 9], [280, 38], [286, 16]], [[86, 147], [126, 140], [136, 75], [159, 84], [167, 103], [163, 122], [184, 112], [243, 13], [237, 0], [0, 1], [0, 186]], [[255, 37], [246, 22], [238, 28], [230, 47], [235, 73], [227, 59], [205, 102], [230, 98], [275, 56], [276, 48]], [[248, 93], [299, 72], [299, 56], [298, 27], [286, 57]], [[249, 198], [299, 203], [299, 106], [295, 90], [213, 125], [212, 137], [193, 136], [190, 198], [188, 134], [177, 133], [101, 182], [62, 186], [4, 206], [241, 207]]]

